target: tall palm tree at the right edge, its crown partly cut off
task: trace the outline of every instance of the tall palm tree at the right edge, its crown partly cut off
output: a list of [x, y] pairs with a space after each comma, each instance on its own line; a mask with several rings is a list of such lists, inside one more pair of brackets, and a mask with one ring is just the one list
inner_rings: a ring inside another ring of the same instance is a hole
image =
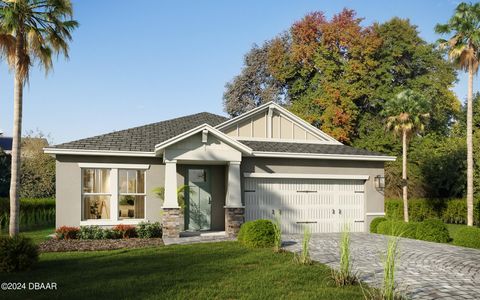
[[450, 39], [438, 40], [448, 49], [450, 59], [468, 72], [467, 95], [467, 225], [473, 225], [473, 75], [478, 71], [480, 46], [480, 3], [460, 3], [446, 24], [437, 24], [435, 31], [452, 34]]

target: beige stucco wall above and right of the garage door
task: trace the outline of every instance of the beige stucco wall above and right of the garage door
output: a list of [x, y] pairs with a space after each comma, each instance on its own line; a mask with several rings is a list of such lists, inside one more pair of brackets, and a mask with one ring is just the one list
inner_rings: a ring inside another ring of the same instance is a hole
[[[241, 165], [243, 173], [298, 173], [298, 174], [336, 174], [368, 175], [365, 182], [365, 213], [383, 213], [384, 196], [377, 191], [374, 178], [384, 176], [384, 163], [377, 161], [346, 161], [285, 158], [244, 157]], [[242, 188], [243, 193], [243, 188]], [[365, 217], [365, 229], [376, 216]]]

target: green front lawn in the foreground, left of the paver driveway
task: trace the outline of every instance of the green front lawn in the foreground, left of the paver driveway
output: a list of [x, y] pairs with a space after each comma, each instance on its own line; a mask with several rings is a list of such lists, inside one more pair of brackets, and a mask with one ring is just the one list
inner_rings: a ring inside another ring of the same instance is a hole
[[324, 265], [293, 263], [291, 253], [238, 242], [144, 249], [45, 253], [31, 271], [0, 282], [56, 282], [57, 291], [7, 291], [15, 299], [363, 299], [337, 288]]

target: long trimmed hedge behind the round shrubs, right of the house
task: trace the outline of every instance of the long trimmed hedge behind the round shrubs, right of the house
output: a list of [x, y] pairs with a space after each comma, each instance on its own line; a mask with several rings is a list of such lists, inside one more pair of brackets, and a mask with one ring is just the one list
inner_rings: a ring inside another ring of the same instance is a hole
[[[388, 219], [403, 220], [403, 200], [387, 199], [385, 214]], [[467, 223], [467, 202], [465, 199], [410, 199], [408, 200], [410, 221], [441, 219], [450, 224]], [[480, 201], [474, 203], [474, 222], [480, 225]]]

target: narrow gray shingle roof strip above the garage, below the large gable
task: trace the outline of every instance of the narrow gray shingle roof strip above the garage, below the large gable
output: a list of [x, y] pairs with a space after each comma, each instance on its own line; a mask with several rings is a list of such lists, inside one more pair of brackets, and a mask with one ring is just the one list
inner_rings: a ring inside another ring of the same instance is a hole
[[343, 155], [374, 155], [388, 156], [386, 154], [357, 149], [345, 145], [303, 144], [264, 141], [241, 141], [242, 144], [252, 148], [253, 151], [263, 152], [291, 152], [291, 153], [315, 153], [315, 154], [343, 154]]

